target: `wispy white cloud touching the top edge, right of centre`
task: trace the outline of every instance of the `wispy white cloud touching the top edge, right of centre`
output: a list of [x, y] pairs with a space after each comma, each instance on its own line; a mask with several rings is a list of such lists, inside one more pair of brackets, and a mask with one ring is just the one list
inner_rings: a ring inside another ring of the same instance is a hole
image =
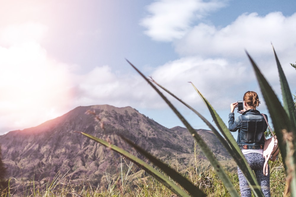
[[191, 23], [208, 12], [224, 6], [223, 1], [159, 0], [148, 6], [151, 15], [142, 19], [145, 33], [153, 40], [172, 41], [182, 38], [191, 29]]

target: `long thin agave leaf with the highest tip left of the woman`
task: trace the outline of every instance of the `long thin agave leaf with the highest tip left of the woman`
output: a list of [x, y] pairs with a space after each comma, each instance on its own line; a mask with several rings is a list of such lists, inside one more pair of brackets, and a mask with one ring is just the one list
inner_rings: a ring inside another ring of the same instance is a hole
[[153, 85], [152, 82], [149, 79], [147, 79], [147, 77], [144, 76], [144, 74], [142, 74], [133, 64], [131, 64], [131, 62], [128, 61], [128, 63], [152, 86], [153, 89], [155, 89], [155, 91], [163, 98], [163, 100], [169, 105], [169, 107], [173, 110], [173, 112], [178, 116], [178, 118], [186, 126], [186, 128], [192, 134], [197, 144], [200, 146], [200, 149], [202, 150], [202, 152], [205, 154], [207, 159], [210, 161], [210, 163], [214, 167], [215, 171], [217, 172], [218, 176], [224, 183], [225, 187], [228, 189], [231, 196], [239, 196], [236, 189], [234, 188], [234, 185], [231, 183], [229, 177], [226, 175], [225, 171], [222, 169], [222, 166], [220, 165], [218, 160], [215, 158], [215, 155], [209, 149], [209, 147], [203, 141], [203, 139], [198, 135], [198, 133], [185, 120], [185, 118], [181, 115], [181, 113], [178, 112], [178, 110], [173, 106], [173, 104], [163, 95], [163, 93], [161, 93], [159, 89], [157, 89], [157, 87], [155, 87], [155, 85]]

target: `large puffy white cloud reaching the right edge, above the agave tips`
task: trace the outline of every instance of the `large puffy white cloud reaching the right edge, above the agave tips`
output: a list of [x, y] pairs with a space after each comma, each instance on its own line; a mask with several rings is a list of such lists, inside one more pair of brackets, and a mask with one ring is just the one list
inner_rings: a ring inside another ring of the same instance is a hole
[[176, 41], [176, 51], [183, 56], [245, 56], [244, 49], [260, 56], [270, 53], [272, 42], [277, 51], [294, 48], [296, 14], [285, 17], [281, 12], [264, 17], [256, 13], [242, 14], [223, 28], [207, 24], [194, 26]]

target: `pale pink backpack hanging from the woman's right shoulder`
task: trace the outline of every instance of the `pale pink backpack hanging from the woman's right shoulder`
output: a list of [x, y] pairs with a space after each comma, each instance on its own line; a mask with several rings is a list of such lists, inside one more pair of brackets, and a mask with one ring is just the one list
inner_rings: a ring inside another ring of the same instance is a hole
[[[274, 135], [274, 133], [272, 132], [267, 120], [266, 120], [266, 117], [264, 114], [262, 114], [267, 125], [268, 125], [268, 128], [270, 129], [271, 131], [271, 134], [272, 134], [272, 137], [271, 138], [268, 138], [268, 139], [265, 139], [265, 143], [264, 143], [264, 148], [263, 148], [263, 157], [265, 158], [265, 163], [263, 165], [263, 174], [265, 176], [268, 175], [268, 160], [271, 160], [271, 161], [275, 161], [276, 160], [276, 156], [279, 154], [279, 144], [278, 144], [278, 139], [276, 137], [276, 135]], [[265, 136], [264, 136], [265, 138]]]

